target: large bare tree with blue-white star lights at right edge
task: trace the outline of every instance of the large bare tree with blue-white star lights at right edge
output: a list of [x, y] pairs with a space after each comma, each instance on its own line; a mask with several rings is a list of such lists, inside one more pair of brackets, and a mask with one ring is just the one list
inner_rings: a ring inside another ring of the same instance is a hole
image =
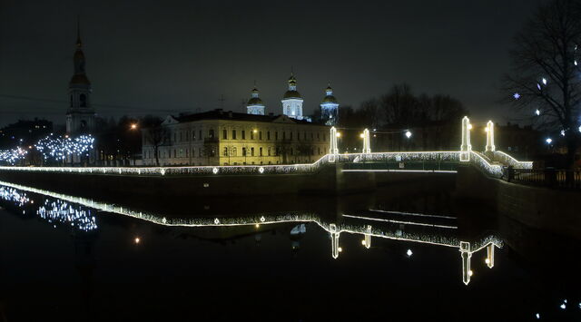
[[503, 85], [505, 97], [513, 106], [529, 115], [537, 114], [539, 128], [562, 131], [569, 167], [573, 167], [579, 143], [580, 42], [581, 3], [547, 2], [517, 34], [510, 53], [512, 70]]

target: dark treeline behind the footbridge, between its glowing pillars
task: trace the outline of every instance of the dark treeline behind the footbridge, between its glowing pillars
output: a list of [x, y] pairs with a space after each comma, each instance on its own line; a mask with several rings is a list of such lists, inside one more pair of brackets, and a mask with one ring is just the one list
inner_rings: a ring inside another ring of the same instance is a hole
[[359, 133], [365, 128], [375, 130], [371, 132], [375, 151], [458, 150], [460, 120], [465, 115], [468, 111], [458, 99], [416, 94], [409, 84], [397, 84], [388, 93], [362, 102], [359, 109], [340, 107], [340, 150], [358, 151]]

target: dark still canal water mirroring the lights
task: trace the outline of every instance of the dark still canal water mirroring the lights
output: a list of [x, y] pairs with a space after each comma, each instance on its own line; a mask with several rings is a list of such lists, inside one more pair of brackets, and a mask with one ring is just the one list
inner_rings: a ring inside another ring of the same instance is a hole
[[102, 195], [0, 183], [0, 321], [581, 320], [578, 241], [446, 187]]

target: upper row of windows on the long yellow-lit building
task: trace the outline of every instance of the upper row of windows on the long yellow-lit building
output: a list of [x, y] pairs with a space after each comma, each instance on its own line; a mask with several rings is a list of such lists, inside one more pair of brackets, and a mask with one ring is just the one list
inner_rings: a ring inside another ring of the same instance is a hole
[[[287, 133], [288, 133], [288, 137], [287, 137]], [[196, 138], [196, 131], [195, 130], [192, 132], [190, 132], [190, 131], [173, 132], [173, 141], [174, 142], [190, 141], [190, 140], [194, 141], [196, 139], [202, 140], [203, 139], [202, 130], [199, 130], [197, 134], [198, 134], [198, 136]], [[222, 130], [222, 140], [229, 140], [229, 139], [230, 140], [246, 140], [247, 135], [246, 135], [245, 130], [240, 131], [240, 139], [239, 139], [238, 134], [239, 134], [239, 132], [237, 130], [231, 130], [231, 132], [229, 132], [228, 130], [224, 129], [224, 130]], [[282, 139], [282, 140], [289, 139], [292, 141], [292, 140], [294, 140], [294, 138], [296, 138], [297, 141], [300, 141], [300, 140], [307, 141], [309, 139], [310, 139], [310, 141], [315, 141], [315, 136], [316, 136], [317, 141], [320, 141], [321, 137], [322, 137], [322, 141], [327, 141], [326, 133], [322, 133], [322, 135], [321, 135], [320, 132], [317, 132], [317, 135], [315, 135], [314, 132], [302, 132], [302, 135], [300, 135], [301, 132], [296, 132], [296, 137], [293, 134], [294, 134], [294, 132], [283, 131], [283, 132], [281, 132], [281, 135], [279, 135], [279, 132], [276, 131], [276, 132], [272, 132], [272, 135], [271, 135], [271, 132], [267, 131], [265, 137], [266, 137], [267, 141], [271, 141], [272, 139], [274, 139], [274, 141], [278, 141], [280, 139]], [[215, 137], [216, 136], [215, 136], [214, 130], [213, 129], [208, 130], [208, 138], [214, 139]], [[263, 139], [262, 131], [252, 130], [249, 133], [249, 137], [250, 137], [250, 140], [262, 140]]]

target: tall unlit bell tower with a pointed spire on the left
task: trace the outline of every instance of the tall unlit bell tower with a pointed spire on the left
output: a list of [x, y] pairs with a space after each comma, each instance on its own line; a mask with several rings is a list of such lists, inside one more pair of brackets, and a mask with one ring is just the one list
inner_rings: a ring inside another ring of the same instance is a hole
[[73, 56], [74, 74], [69, 82], [69, 108], [66, 112], [66, 132], [70, 135], [94, 132], [94, 109], [91, 106], [91, 82], [85, 73], [81, 28], [77, 20], [76, 50]]

